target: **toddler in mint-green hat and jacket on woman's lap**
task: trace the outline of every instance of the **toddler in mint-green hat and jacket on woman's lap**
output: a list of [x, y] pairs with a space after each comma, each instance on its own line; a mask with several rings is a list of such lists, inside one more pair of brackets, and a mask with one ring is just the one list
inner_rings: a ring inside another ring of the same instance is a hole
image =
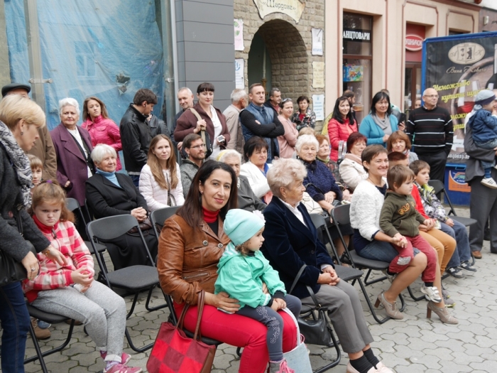
[[[298, 318], [302, 303], [286, 293], [278, 272], [259, 251], [264, 242], [263, 216], [229, 210], [223, 227], [231, 242], [217, 265], [214, 293], [225, 291], [238, 299], [240, 309], [236, 313], [267, 326], [270, 373], [294, 373], [283, 358], [283, 318], [277, 311], [286, 307]], [[263, 283], [268, 293], [263, 292]]]

